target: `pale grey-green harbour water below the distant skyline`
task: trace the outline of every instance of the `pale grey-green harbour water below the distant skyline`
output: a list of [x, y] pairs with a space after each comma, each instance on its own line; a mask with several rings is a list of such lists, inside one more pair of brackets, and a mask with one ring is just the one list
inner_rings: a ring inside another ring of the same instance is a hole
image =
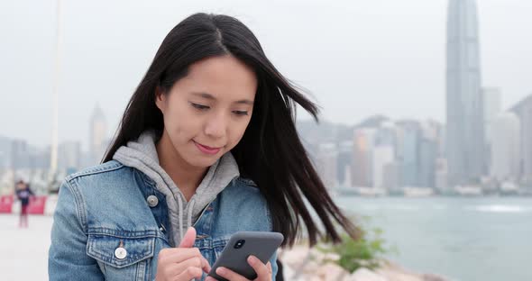
[[335, 202], [371, 217], [386, 258], [451, 280], [532, 280], [532, 198], [350, 197]]

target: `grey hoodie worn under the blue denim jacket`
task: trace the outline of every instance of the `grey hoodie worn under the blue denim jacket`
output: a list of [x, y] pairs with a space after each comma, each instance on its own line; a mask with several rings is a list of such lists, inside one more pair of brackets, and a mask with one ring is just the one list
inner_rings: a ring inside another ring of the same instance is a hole
[[240, 176], [240, 173], [231, 152], [225, 153], [208, 169], [201, 184], [197, 186], [196, 194], [187, 202], [178, 186], [159, 165], [155, 138], [154, 131], [145, 131], [138, 140], [129, 141], [126, 146], [116, 150], [113, 159], [124, 166], [140, 170], [150, 177], [157, 190], [166, 196], [171, 232], [174, 234], [173, 243], [177, 246], [185, 231], [197, 221], [206, 205], [212, 202], [234, 177]]

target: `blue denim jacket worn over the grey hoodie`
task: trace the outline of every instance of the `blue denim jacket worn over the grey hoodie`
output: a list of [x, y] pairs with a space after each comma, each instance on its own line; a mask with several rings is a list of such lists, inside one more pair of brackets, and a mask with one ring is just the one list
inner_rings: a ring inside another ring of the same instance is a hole
[[[206, 206], [194, 227], [194, 247], [211, 266], [234, 232], [272, 230], [264, 197], [243, 177], [236, 177]], [[115, 160], [88, 168], [67, 177], [60, 187], [51, 230], [50, 281], [153, 280], [159, 251], [175, 247], [171, 234], [165, 196], [151, 178]], [[274, 254], [270, 260], [272, 276], [277, 274], [276, 259]]]

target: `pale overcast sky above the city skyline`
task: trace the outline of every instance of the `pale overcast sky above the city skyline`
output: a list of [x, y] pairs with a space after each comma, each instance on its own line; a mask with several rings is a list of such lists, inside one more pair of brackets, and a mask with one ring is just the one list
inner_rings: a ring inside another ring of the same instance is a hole
[[[60, 141], [87, 145], [96, 103], [114, 131], [164, 36], [196, 12], [247, 24], [326, 120], [445, 121], [446, 0], [61, 3]], [[508, 108], [532, 94], [532, 1], [477, 5], [482, 86]], [[0, 135], [50, 143], [55, 28], [56, 1], [0, 2]]]

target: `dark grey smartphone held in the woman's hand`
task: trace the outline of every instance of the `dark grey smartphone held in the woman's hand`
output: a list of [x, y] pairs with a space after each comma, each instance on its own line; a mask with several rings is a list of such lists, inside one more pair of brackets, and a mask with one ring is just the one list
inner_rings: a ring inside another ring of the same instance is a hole
[[247, 258], [253, 255], [266, 264], [279, 248], [284, 237], [279, 232], [268, 231], [239, 231], [231, 236], [225, 245], [220, 257], [216, 259], [215, 265], [209, 272], [209, 276], [217, 280], [226, 281], [224, 277], [216, 274], [217, 267], [226, 267], [234, 272], [253, 280], [257, 277], [255, 270], [251, 267]]

